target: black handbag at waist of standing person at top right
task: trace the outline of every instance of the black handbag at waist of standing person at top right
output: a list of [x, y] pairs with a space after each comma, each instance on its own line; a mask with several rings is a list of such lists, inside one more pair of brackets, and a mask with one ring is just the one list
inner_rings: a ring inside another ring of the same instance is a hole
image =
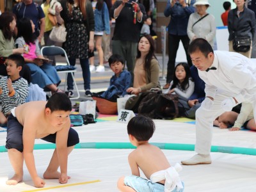
[[237, 52], [247, 52], [251, 48], [250, 37], [236, 37], [233, 39], [233, 49]]

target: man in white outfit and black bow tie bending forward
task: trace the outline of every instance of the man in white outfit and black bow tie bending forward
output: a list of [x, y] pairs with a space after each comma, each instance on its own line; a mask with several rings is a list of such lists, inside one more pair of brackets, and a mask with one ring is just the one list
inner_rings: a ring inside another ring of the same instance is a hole
[[[213, 52], [203, 38], [191, 42], [188, 52], [205, 82], [205, 100], [196, 110], [195, 151], [198, 154], [181, 163], [210, 164], [214, 119], [241, 102], [252, 102], [256, 109], [256, 62], [237, 52]], [[255, 112], [254, 117], [256, 119]]]

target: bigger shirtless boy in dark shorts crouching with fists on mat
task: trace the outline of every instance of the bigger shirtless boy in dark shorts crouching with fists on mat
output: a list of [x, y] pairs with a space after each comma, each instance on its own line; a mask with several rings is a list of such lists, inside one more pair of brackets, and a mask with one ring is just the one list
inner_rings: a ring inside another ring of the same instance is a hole
[[68, 182], [68, 154], [79, 143], [77, 132], [70, 128], [71, 109], [68, 96], [59, 92], [54, 93], [47, 102], [31, 101], [12, 109], [8, 116], [5, 147], [15, 173], [6, 184], [15, 185], [22, 181], [25, 161], [35, 187], [44, 187], [45, 181], [36, 172], [33, 155], [35, 139], [56, 143], [44, 179], [59, 179], [61, 184]]

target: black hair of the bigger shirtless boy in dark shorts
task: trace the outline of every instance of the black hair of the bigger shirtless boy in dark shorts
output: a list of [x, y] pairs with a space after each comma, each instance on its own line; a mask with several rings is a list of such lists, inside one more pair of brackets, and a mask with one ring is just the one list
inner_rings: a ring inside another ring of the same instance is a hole
[[51, 112], [53, 111], [71, 111], [72, 110], [72, 104], [70, 99], [68, 98], [68, 95], [65, 93], [54, 93], [49, 100], [47, 101], [47, 104], [45, 105], [45, 108], [51, 109]]

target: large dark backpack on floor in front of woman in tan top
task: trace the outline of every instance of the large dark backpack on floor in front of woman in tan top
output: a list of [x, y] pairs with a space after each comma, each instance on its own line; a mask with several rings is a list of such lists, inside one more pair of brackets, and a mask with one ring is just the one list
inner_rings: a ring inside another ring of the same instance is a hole
[[176, 94], [148, 93], [140, 102], [138, 113], [155, 119], [173, 119], [179, 115]]

